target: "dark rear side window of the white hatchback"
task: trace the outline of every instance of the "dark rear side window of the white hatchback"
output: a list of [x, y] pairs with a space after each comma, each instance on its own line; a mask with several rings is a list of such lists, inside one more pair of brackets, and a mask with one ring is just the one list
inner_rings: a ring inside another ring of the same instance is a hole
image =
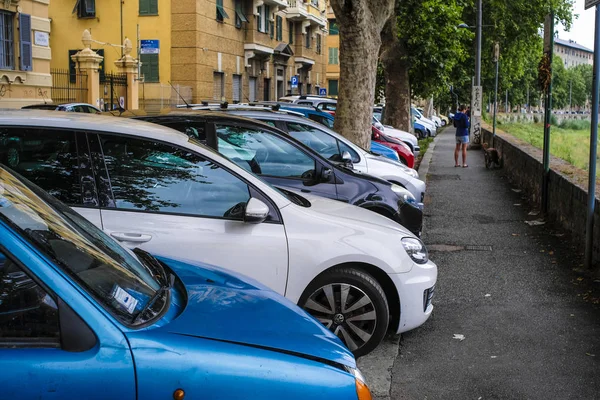
[[60, 201], [82, 204], [75, 132], [0, 128], [2, 163]]

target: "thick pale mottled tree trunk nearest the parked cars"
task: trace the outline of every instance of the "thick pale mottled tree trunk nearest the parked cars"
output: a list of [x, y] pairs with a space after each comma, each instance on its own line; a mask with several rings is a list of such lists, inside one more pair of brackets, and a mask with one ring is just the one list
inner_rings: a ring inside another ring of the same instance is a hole
[[371, 148], [380, 33], [394, 0], [331, 0], [340, 27], [340, 82], [334, 129]]

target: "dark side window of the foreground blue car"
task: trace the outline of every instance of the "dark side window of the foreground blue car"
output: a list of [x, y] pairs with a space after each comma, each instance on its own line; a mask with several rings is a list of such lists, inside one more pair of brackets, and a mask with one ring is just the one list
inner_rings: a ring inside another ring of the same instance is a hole
[[60, 347], [58, 307], [0, 250], [0, 346]]

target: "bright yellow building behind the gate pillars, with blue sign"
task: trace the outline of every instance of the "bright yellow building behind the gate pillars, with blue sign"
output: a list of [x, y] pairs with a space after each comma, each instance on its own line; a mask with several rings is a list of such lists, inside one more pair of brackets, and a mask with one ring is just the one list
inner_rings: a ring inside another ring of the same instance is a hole
[[[173, 3], [177, 2], [173, 0]], [[87, 29], [94, 40], [92, 48], [104, 57], [100, 66], [100, 91], [107, 100], [111, 94], [110, 82], [102, 77], [106, 73], [119, 72], [115, 61], [123, 55], [124, 39], [129, 38], [142, 53], [140, 104], [163, 101], [168, 105], [171, 97], [168, 84], [171, 78], [171, 0], [52, 0], [50, 19], [55, 86], [68, 84], [57, 83], [65, 71], [69, 73], [70, 83], [74, 83], [76, 67], [71, 56], [82, 49], [81, 34]], [[132, 56], [138, 58], [138, 51], [134, 50]]]

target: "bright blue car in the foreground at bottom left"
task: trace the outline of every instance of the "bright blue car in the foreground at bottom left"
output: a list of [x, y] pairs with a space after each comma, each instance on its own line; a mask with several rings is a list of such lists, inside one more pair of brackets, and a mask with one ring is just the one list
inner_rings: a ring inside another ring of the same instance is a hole
[[125, 250], [2, 166], [0, 371], [5, 399], [371, 398], [352, 353], [283, 297]]

